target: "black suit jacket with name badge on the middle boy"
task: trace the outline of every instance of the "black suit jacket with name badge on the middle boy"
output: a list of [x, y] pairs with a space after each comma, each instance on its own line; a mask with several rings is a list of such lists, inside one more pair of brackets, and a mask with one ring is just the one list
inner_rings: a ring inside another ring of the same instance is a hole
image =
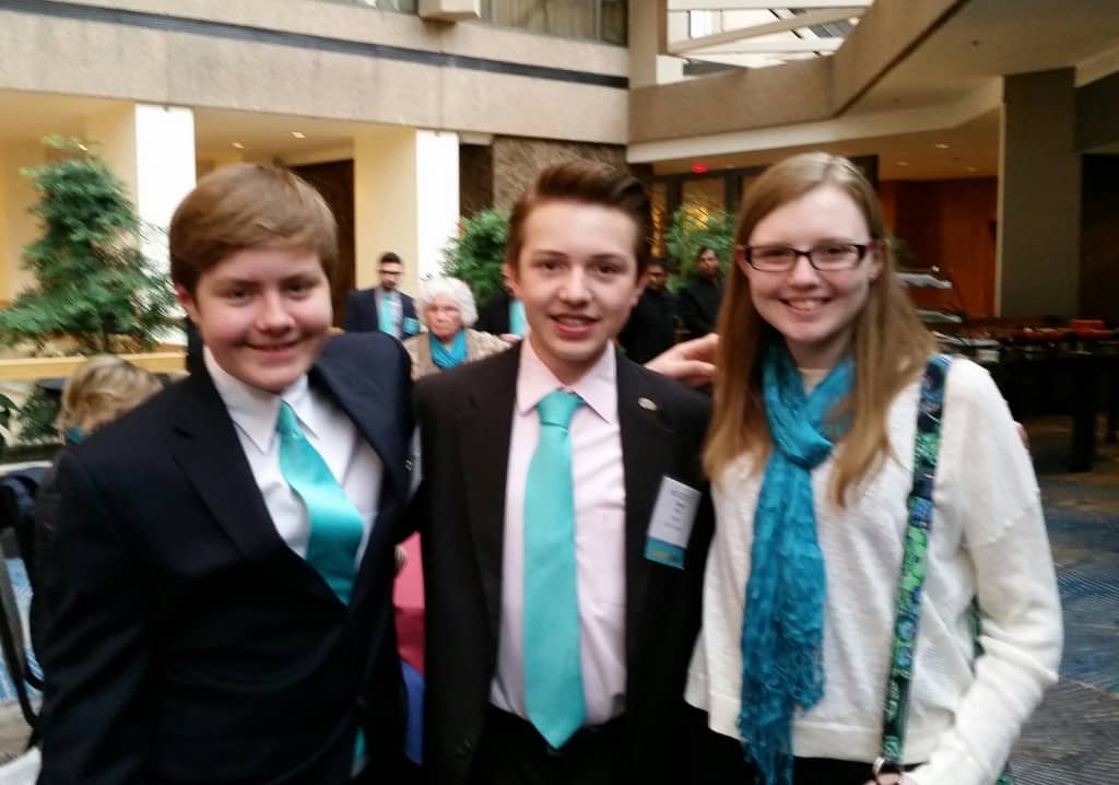
[[[505, 483], [520, 347], [416, 385], [423, 423], [417, 506], [426, 600], [424, 767], [440, 785], [466, 781], [497, 663]], [[699, 466], [706, 398], [619, 356], [618, 415], [626, 471], [627, 742], [633, 782], [674, 782], [676, 723], [699, 627], [712, 511]], [[645, 558], [647, 527], [671, 475], [704, 490], [684, 570]], [[686, 782], [686, 779], [675, 779]]]

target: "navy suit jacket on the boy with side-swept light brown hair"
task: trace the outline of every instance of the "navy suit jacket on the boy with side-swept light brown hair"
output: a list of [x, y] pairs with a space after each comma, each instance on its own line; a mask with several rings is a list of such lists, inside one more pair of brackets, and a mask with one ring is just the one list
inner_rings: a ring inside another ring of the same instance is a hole
[[339, 336], [309, 377], [385, 467], [348, 607], [281, 540], [205, 367], [60, 461], [41, 785], [345, 783], [359, 725], [393, 781], [407, 355]]

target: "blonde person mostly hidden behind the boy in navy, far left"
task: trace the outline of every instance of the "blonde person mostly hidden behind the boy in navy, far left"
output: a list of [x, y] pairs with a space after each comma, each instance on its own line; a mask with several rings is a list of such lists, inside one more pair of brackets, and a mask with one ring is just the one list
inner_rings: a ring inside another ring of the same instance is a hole
[[[58, 432], [68, 451], [102, 426], [140, 405], [163, 389], [159, 377], [116, 357], [91, 357], [74, 370], [63, 387]], [[31, 643], [43, 652], [58, 605], [54, 558], [58, 527], [58, 461], [47, 470], [35, 499], [35, 594], [31, 596]]]

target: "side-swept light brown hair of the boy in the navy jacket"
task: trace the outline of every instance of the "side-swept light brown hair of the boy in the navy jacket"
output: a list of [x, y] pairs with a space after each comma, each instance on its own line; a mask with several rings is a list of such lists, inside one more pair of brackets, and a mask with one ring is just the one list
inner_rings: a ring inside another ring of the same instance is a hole
[[311, 251], [328, 280], [338, 227], [327, 203], [292, 172], [257, 163], [222, 167], [198, 180], [171, 217], [171, 280], [195, 293], [199, 277], [248, 247]]

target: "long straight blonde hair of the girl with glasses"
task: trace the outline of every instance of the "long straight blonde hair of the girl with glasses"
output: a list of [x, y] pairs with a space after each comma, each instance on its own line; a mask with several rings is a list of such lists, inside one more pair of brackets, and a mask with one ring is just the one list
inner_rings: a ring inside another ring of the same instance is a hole
[[[735, 243], [750, 243], [754, 227], [778, 207], [816, 188], [837, 188], [858, 206], [866, 219], [881, 273], [871, 282], [866, 305], [855, 317], [852, 354], [855, 382], [852, 394], [835, 412], [850, 418], [850, 429], [836, 452], [831, 492], [843, 506], [848, 488], [873, 471], [890, 450], [886, 415], [894, 396], [924, 367], [935, 344], [921, 324], [894, 275], [895, 262], [874, 188], [845, 158], [809, 152], [775, 163], [743, 197]], [[764, 346], [780, 335], [754, 308], [750, 282], [732, 265], [718, 316], [715, 401], [704, 468], [718, 483], [727, 464], [742, 455], [764, 458], [772, 446], [762, 401], [761, 367]], [[762, 466], [762, 461], [756, 464]]]

